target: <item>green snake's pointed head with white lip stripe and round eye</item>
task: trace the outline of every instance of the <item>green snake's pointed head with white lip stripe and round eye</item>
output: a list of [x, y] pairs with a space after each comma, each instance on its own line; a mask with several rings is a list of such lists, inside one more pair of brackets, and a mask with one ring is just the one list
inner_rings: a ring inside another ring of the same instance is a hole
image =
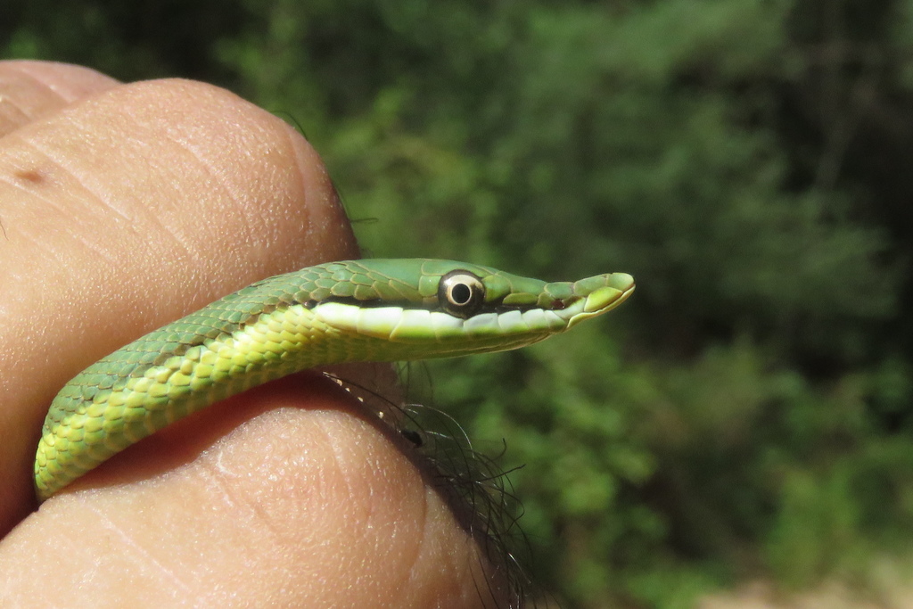
[[[334, 266], [335, 265], [335, 266]], [[359, 260], [325, 265], [360, 289], [318, 303], [324, 323], [365, 339], [385, 359], [516, 349], [612, 310], [635, 289], [626, 273], [548, 283], [452, 260]], [[386, 356], [389, 353], [389, 357]]]

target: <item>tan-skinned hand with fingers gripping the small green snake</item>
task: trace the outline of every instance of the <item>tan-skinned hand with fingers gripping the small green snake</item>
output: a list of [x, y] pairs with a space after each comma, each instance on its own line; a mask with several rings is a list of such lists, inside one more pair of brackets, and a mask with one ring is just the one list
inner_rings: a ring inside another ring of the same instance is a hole
[[199, 82], [0, 62], [0, 226], [0, 606], [505, 604], [397, 439], [316, 373], [189, 417], [37, 509], [41, 424], [75, 373], [259, 278], [358, 257], [283, 121]]

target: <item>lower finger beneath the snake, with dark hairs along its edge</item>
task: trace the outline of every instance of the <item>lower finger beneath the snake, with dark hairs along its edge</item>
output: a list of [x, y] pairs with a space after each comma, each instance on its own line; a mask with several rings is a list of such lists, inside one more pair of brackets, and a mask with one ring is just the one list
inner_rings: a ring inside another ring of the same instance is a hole
[[26, 560], [0, 554], [0, 589], [38, 605], [89, 604], [62, 595], [79, 587], [116, 606], [507, 606], [444, 501], [335, 385], [293, 377], [237, 397], [220, 404], [229, 419], [262, 414], [227, 422], [173, 475], [48, 501], [10, 536], [37, 539]]

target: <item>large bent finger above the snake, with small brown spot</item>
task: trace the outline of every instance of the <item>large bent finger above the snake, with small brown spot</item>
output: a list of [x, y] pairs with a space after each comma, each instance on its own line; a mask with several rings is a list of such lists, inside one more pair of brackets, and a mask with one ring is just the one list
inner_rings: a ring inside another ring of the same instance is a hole
[[90, 362], [259, 278], [353, 257], [317, 155], [222, 89], [125, 85], [0, 140], [0, 530]]

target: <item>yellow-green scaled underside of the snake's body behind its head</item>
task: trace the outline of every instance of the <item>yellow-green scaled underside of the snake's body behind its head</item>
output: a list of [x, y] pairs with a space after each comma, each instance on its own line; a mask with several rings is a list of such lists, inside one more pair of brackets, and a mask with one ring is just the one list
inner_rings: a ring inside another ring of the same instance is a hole
[[[204, 311], [201, 311], [203, 313]], [[199, 320], [196, 320], [197, 322]], [[317, 365], [415, 358], [415, 346], [341, 331], [302, 305], [263, 313], [234, 331], [176, 349], [163, 362], [137, 366], [173, 344], [170, 327], [152, 332], [80, 373], [61, 390], [48, 412], [38, 444], [35, 477], [39, 499], [47, 499], [89, 469], [143, 437], [228, 396]], [[511, 345], [492, 334], [472, 351]], [[182, 343], [186, 344], [186, 343]], [[143, 355], [146, 355], [143, 358]], [[436, 357], [431, 351], [422, 357]], [[111, 371], [126, 374], [111, 382]]]

